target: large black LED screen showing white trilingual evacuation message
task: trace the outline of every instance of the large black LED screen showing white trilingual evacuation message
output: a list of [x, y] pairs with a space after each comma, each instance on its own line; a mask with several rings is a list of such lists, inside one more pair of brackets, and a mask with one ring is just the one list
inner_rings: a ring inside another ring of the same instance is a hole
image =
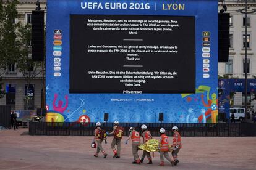
[[71, 93], [193, 93], [195, 18], [70, 15], [69, 73]]

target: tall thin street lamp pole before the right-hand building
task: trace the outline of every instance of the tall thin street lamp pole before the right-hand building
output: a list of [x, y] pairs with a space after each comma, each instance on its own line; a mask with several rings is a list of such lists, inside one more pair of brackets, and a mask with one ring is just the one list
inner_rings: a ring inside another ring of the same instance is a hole
[[249, 7], [247, 7], [247, 0], [245, 0], [245, 8], [244, 9], [239, 9], [238, 11], [241, 12], [242, 14], [245, 14], [245, 99], [244, 99], [244, 110], [245, 110], [245, 120], [248, 118], [248, 101], [247, 101], [247, 47], [248, 47], [248, 42], [247, 42], [247, 14], [252, 14], [256, 12], [256, 9], [251, 9], [248, 11]]

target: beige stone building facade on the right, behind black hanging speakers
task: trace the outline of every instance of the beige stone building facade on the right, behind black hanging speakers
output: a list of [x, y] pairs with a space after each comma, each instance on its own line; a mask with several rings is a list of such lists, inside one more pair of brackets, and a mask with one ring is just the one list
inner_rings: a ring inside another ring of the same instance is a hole
[[[227, 11], [230, 13], [230, 47], [228, 63], [218, 63], [218, 75], [229, 78], [244, 78], [245, 76], [245, 24], [247, 23], [247, 73], [248, 78], [256, 78], [256, 12], [247, 15], [241, 14], [239, 9], [245, 8], [245, 1], [225, 1]], [[256, 9], [255, 0], [247, 0], [248, 12]], [[223, 4], [219, 3], [219, 9]]]

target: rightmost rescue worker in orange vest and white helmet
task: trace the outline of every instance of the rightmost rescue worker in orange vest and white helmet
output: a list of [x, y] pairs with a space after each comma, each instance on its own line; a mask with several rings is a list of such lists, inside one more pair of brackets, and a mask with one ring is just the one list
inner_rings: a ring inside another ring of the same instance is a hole
[[181, 135], [178, 132], [179, 128], [177, 126], [173, 126], [171, 130], [174, 132], [173, 152], [171, 152], [171, 155], [173, 156], [174, 165], [176, 166], [177, 163], [179, 163], [179, 160], [177, 159], [177, 153], [179, 153], [179, 150], [181, 149]]

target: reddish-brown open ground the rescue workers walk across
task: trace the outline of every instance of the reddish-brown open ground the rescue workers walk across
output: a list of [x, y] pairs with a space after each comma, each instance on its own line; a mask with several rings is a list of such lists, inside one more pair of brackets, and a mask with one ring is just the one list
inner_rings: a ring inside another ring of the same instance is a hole
[[[127, 137], [124, 137], [126, 139]], [[154, 137], [158, 139], [159, 137]], [[28, 129], [0, 131], [0, 169], [255, 169], [256, 137], [182, 137], [180, 163], [164, 167], [158, 152], [153, 164], [132, 164], [130, 142], [122, 139], [121, 158], [112, 158], [111, 140], [103, 144], [108, 153], [93, 157], [91, 136], [29, 136]], [[171, 137], [170, 137], [171, 139]], [[139, 151], [142, 155], [142, 151]]]

